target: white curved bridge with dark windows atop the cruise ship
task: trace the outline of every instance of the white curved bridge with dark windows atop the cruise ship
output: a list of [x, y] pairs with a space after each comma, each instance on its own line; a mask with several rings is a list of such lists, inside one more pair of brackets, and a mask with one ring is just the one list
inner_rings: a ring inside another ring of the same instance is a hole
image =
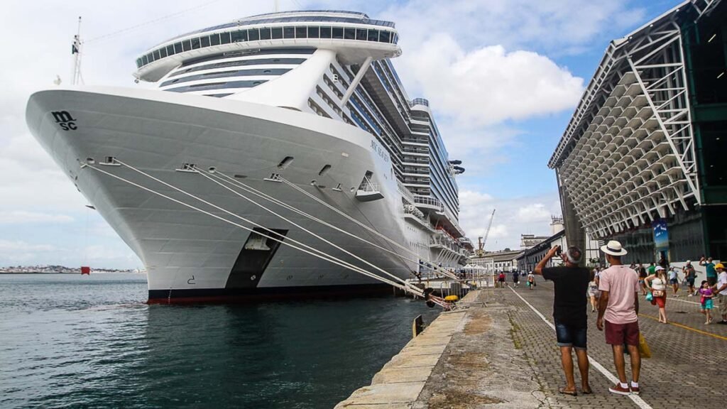
[[281, 47], [331, 49], [342, 63], [398, 57], [394, 23], [360, 12], [316, 10], [245, 17], [193, 31], [152, 47], [136, 60], [137, 79], [156, 82], [186, 60], [225, 52]]

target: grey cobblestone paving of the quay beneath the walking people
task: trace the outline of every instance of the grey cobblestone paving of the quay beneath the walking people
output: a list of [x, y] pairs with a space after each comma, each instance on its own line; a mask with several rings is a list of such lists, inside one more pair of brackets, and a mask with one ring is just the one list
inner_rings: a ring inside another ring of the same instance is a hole
[[[537, 287], [529, 290], [513, 288], [535, 309], [553, 322], [553, 283], [539, 279]], [[629, 397], [611, 394], [611, 381], [593, 366], [590, 384], [593, 395], [577, 397], [558, 394], [565, 384], [561, 370], [560, 352], [555, 345], [555, 332], [542, 321], [510, 288], [488, 289], [486, 297], [515, 308], [507, 311], [513, 322], [515, 345], [523, 349], [550, 408], [629, 408], [637, 407]], [[704, 325], [699, 313], [699, 298], [685, 297], [667, 300], [667, 319], [670, 324], [657, 322], [656, 306], [640, 303], [639, 325], [651, 348], [652, 357], [642, 360], [640, 397], [652, 408], [721, 408], [727, 395], [727, 325]], [[718, 304], [715, 303], [715, 306]], [[596, 313], [589, 310], [588, 354], [606, 370], [616, 374], [611, 347], [595, 327]], [[716, 313], [716, 311], [715, 311]], [[715, 322], [719, 317], [715, 317]], [[513, 348], [503, 345], [503, 348]], [[630, 369], [627, 362], [627, 376]], [[577, 373], [577, 368], [576, 368]], [[507, 381], [507, 374], [502, 374]], [[579, 376], [576, 384], [580, 385]]]

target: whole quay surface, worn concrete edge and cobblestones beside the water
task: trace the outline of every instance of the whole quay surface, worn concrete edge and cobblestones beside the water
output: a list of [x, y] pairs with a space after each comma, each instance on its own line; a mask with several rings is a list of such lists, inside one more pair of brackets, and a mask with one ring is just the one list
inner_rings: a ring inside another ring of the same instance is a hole
[[668, 325], [656, 322], [655, 306], [641, 307], [639, 325], [654, 356], [642, 361], [639, 396], [608, 392], [616, 370], [591, 312], [593, 394], [581, 393], [578, 374], [577, 397], [558, 393], [565, 378], [550, 327], [553, 284], [538, 279], [535, 290], [471, 292], [466, 301], [486, 301], [487, 306], [441, 314], [384, 365], [371, 385], [336, 408], [721, 408], [727, 396], [727, 325], [704, 325], [699, 299], [685, 295], [670, 295]]

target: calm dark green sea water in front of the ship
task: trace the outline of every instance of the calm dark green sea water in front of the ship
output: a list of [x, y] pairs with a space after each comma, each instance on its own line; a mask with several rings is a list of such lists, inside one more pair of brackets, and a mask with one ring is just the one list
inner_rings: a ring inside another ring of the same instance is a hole
[[437, 312], [393, 297], [145, 299], [139, 274], [0, 275], [0, 408], [332, 408]]

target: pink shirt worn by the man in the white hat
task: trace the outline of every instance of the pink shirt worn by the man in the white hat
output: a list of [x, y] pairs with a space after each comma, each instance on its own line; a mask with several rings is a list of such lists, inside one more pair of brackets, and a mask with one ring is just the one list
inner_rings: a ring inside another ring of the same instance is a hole
[[603, 318], [613, 324], [638, 321], [634, 301], [639, 292], [638, 273], [629, 266], [611, 266], [601, 271], [598, 290], [608, 291], [608, 305]]

